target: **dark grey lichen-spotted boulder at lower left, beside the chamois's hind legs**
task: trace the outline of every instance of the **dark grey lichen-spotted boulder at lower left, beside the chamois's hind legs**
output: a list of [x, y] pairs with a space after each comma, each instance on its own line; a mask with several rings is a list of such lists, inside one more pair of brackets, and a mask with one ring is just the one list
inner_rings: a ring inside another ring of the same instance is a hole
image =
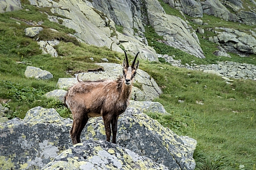
[[24, 120], [14, 118], [0, 123], [1, 168], [42, 169], [72, 146], [71, 125], [71, 119], [43, 107], [29, 110]]

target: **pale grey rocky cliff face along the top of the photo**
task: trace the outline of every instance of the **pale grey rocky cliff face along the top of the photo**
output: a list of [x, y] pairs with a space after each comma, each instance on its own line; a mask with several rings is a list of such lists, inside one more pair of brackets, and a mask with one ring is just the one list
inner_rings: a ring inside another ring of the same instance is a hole
[[[144, 26], [150, 24], [165, 39], [165, 44], [195, 57], [204, 58], [195, 30], [189, 26], [186, 18], [165, 14], [157, 0], [146, 1], [37, 1], [29, 0], [37, 7], [50, 7], [56, 17], [49, 14], [49, 20], [63, 24], [76, 30], [75, 35], [82, 42], [106, 46], [121, 52], [127, 50], [131, 54], [141, 51], [140, 58], [158, 61], [155, 50], [148, 46], [144, 37]], [[202, 17], [204, 13], [235, 21], [256, 24], [256, 2], [243, 1], [183, 1], [164, 0], [171, 7], [192, 17]], [[21, 8], [19, 1], [1, 2], [2, 11]], [[7, 5], [8, 4], [8, 5]], [[10, 9], [9, 9], [10, 8]], [[231, 10], [231, 11], [230, 11]], [[60, 22], [61, 21], [61, 22]], [[116, 29], [122, 27], [122, 31]], [[255, 53], [252, 53], [255, 54]]]

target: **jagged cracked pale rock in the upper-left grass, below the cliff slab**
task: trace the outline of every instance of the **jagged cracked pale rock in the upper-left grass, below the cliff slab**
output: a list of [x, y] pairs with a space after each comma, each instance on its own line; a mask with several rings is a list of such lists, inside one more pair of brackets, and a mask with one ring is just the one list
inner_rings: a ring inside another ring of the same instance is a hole
[[53, 48], [55, 45], [59, 44], [58, 40], [39, 41], [37, 44], [40, 45], [43, 54], [50, 54], [52, 57], [58, 57], [58, 52]]

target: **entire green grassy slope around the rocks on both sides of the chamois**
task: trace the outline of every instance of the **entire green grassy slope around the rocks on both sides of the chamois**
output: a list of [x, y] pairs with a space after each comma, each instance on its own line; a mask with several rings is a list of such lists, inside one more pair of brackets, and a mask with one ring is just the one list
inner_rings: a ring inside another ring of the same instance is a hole
[[[94, 63], [102, 62], [101, 58], [108, 58], [113, 63], [121, 63], [123, 54], [82, 45], [68, 37], [66, 33], [73, 30], [62, 27], [56, 23], [50, 23], [46, 15], [37, 9], [26, 6], [30, 11], [22, 10], [12, 13], [0, 14], [0, 102], [11, 100], [5, 106], [10, 107], [14, 116], [23, 118], [28, 109], [35, 106], [55, 107], [62, 116], [69, 116], [70, 112], [63, 109], [61, 103], [54, 100], [46, 100], [42, 94], [56, 88], [58, 78], [71, 76], [73, 73], [95, 69]], [[165, 7], [165, 11], [170, 8]], [[44, 31], [39, 39], [57, 38], [62, 40], [56, 47], [61, 57], [52, 58], [42, 55], [37, 43], [26, 38], [24, 29], [27, 24], [17, 20], [44, 21]], [[204, 19], [210, 20], [212, 17]], [[214, 18], [218, 23], [218, 18]], [[224, 21], [222, 21], [224, 22]], [[212, 21], [214, 23], [214, 21]], [[225, 24], [228, 24], [228, 22]], [[246, 26], [245, 26], [246, 27]], [[60, 33], [49, 32], [49, 28], [59, 30]], [[156, 51], [161, 54], [176, 55], [182, 63], [194, 60], [197, 64], [211, 64], [216, 60], [241, 61], [255, 64], [250, 58], [216, 58], [212, 52], [216, 50], [215, 44], [201, 39], [201, 46], [205, 60], [195, 58], [185, 52], [165, 47], [156, 40], [156, 36], [150, 27], [146, 33], [149, 43], [153, 42]], [[89, 60], [93, 57], [95, 61]], [[23, 61], [19, 64], [16, 61]], [[26, 66], [40, 67], [48, 70], [54, 76], [49, 81], [38, 81], [25, 78]], [[173, 129], [179, 135], [188, 135], [198, 142], [194, 157], [197, 161], [197, 169], [239, 169], [239, 165], [245, 165], [245, 169], [255, 169], [256, 145], [255, 145], [255, 94], [256, 83], [249, 80], [234, 80], [233, 85], [214, 75], [180, 69], [170, 66], [168, 63], [149, 63], [141, 61], [140, 68], [148, 72], [161, 86], [163, 94], [156, 99], [162, 103], [171, 116], [153, 115], [162, 125]], [[68, 74], [67, 72], [71, 73]], [[184, 103], [178, 103], [184, 100]], [[201, 101], [204, 104], [196, 104]]]

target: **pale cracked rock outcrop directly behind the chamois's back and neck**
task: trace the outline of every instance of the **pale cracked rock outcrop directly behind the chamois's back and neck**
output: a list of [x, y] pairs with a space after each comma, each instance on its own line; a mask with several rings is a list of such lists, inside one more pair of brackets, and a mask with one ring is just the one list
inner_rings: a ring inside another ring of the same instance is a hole
[[[104, 67], [104, 71], [100, 72], [87, 72], [87, 73], [79, 73], [77, 75], [80, 81], [97, 81], [102, 79], [115, 80], [120, 75], [122, 75], [122, 66], [121, 64], [115, 63], [97, 63], [98, 65]], [[162, 91], [159, 86], [156, 84], [155, 80], [149, 76], [143, 70], [138, 69], [137, 74], [134, 79], [134, 83], [138, 86], [141, 86], [141, 89], [134, 88], [132, 90], [133, 100], [138, 101], [150, 101], [153, 98], [158, 97]], [[59, 79], [57, 86], [61, 89], [68, 89], [74, 84], [76, 84], [77, 78], [61, 78]]]

